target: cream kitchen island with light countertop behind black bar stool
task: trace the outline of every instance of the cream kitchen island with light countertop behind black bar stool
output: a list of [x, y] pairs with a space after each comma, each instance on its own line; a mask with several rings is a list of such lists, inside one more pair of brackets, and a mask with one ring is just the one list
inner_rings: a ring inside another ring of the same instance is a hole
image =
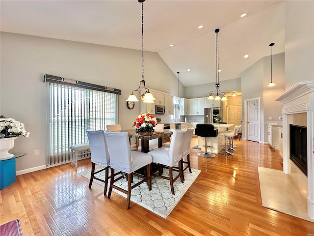
[[[219, 153], [219, 151], [223, 148], [223, 145], [225, 145], [225, 137], [222, 135], [219, 135], [219, 133], [226, 132], [227, 128], [233, 126], [234, 124], [213, 124], [214, 129], [218, 129], [218, 135], [217, 137], [207, 138], [207, 151], [209, 153]], [[196, 127], [195, 127], [196, 128]], [[201, 151], [205, 151], [205, 138], [204, 137], [198, 137], [198, 147], [201, 148]]]

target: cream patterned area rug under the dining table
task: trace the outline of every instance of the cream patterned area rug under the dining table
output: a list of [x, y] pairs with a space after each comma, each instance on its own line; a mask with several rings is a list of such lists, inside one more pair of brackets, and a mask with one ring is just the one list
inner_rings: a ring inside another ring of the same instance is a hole
[[[99, 165], [95, 168], [95, 171], [101, 168], [103, 167]], [[91, 170], [87, 170], [78, 174], [89, 179], [90, 172]], [[188, 169], [186, 169], [184, 171], [185, 179], [184, 183], [182, 183], [180, 179], [177, 179], [174, 182], [175, 195], [171, 194], [169, 180], [158, 177], [152, 177], [152, 190], [151, 191], [148, 190], [148, 186], [146, 185], [146, 183], [140, 184], [136, 188], [132, 189], [131, 201], [137, 203], [142, 207], [145, 207], [146, 209], [156, 213], [157, 215], [163, 218], [167, 218], [167, 216], [170, 214], [173, 208], [176, 207], [176, 205], [183, 197], [187, 189], [192, 185], [192, 183], [200, 173], [201, 173], [200, 170], [195, 169], [192, 169], [192, 173], [189, 173]], [[164, 169], [163, 175], [169, 176], [169, 170]], [[104, 171], [98, 173], [98, 177], [105, 179], [104, 176], [105, 176]], [[138, 181], [139, 179], [134, 176], [133, 184]], [[93, 184], [95, 183], [101, 184], [103, 186], [105, 185], [103, 182], [94, 179]], [[126, 178], [122, 178], [115, 183], [115, 185], [125, 190], [128, 189], [127, 184], [128, 181]], [[112, 191], [120, 194], [121, 196], [124, 196], [125, 198], [127, 197], [126, 194], [117, 191], [116, 189], [112, 189]]]

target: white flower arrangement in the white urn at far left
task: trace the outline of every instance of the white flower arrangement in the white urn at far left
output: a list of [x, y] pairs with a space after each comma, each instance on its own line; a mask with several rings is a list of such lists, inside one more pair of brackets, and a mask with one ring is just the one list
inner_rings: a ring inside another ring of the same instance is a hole
[[29, 132], [26, 131], [24, 123], [13, 118], [0, 116], [0, 138], [19, 137], [23, 135], [28, 138]]

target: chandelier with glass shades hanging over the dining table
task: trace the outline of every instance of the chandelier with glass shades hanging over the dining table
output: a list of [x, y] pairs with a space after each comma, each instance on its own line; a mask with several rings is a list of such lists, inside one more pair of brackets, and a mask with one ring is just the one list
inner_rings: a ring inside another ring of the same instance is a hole
[[[145, 86], [145, 80], [144, 80], [144, 24], [143, 24], [143, 2], [145, 0], [137, 0], [139, 3], [142, 3], [142, 80], [139, 82], [138, 89], [135, 89], [131, 92], [131, 95], [129, 96], [127, 102], [138, 102], [138, 99], [133, 94], [134, 91], [139, 92], [141, 99], [145, 103], [154, 103], [155, 98], [153, 97], [153, 94], [149, 92], [149, 89]], [[144, 88], [141, 89], [141, 86], [144, 86]], [[142, 91], [143, 90], [143, 91]]]

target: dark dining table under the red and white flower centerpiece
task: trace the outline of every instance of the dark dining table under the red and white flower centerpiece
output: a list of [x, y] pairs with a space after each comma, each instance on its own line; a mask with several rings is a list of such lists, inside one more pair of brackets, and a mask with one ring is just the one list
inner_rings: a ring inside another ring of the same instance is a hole
[[163, 131], [151, 131], [151, 132], [137, 132], [135, 129], [121, 130], [127, 132], [129, 139], [133, 138], [136, 140], [141, 139], [142, 152], [149, 152], [149, 141], [152, 139], [158, 139], [158, 148], [162, 147], [162, 138], [170, 137], [173, 134], [172, 129], [164, 129]]

